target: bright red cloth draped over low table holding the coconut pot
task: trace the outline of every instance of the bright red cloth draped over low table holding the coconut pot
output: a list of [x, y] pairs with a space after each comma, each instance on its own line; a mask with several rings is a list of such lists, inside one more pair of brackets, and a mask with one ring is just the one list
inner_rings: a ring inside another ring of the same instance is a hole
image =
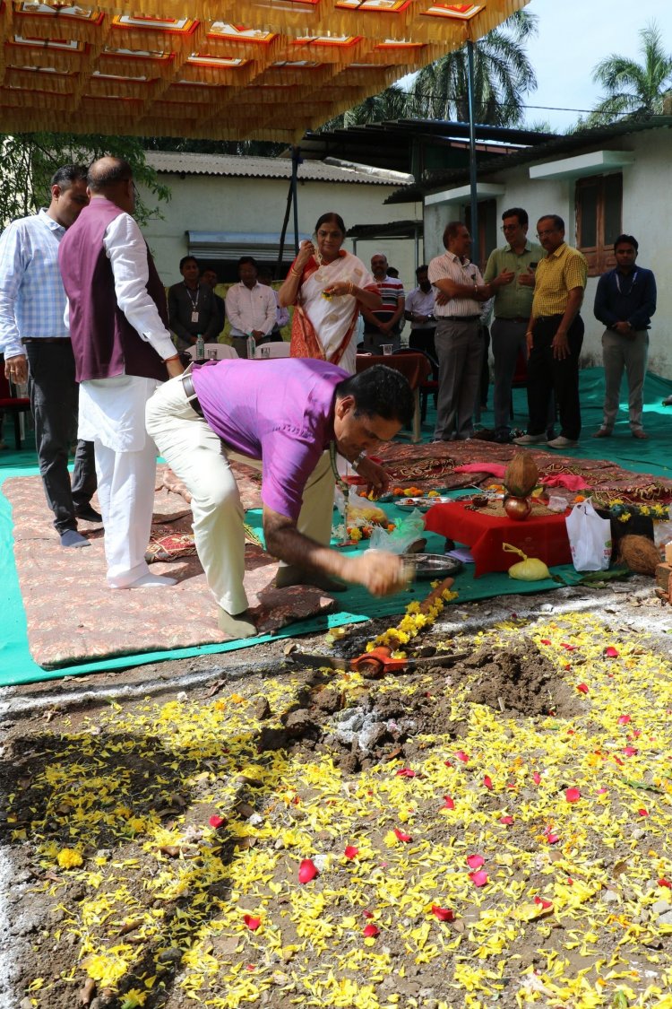
[[530, 516], [524, 522], [515, 522], [507, 516], [467, 512], [467, 503], [434, 504], [425, 515], [425, 527], [471, 549], [476, 561], [475, 578], [488, 571], [508, 571], [521, 559], [502, 550], [503, 543], [511, 543], [528, 557], [538, 557], [549, 567], [571, 564], [564, 515]]

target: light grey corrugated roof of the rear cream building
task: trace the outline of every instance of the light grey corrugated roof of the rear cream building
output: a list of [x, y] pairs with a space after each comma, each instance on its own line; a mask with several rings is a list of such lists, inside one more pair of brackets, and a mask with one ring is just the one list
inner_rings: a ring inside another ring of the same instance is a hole
[[[239, 154], [195, 154], [167, 150], [147, 151], [147, 163], [160, 174], [226, 176], [238, 179], [290, 179], [289, 157], [246, 157]], [[322, 161], [302, 161], [298, 180], [322, 183], [359, 183], [370, 186], [406, 186], [412, 176], [382, 169], [346, 169]]]

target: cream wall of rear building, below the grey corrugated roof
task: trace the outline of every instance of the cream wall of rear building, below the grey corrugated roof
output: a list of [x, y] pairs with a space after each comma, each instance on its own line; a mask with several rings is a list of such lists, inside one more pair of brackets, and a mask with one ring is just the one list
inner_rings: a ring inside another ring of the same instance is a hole
[[[161, 207], [164, 220], [151, 221], [144, 234], [165, 285], [180, 279], [178, 263], [188, 252], [187, 231], [277, 232], [282, 229], [289, 183], [284, 179], [239, 179], [218, 176], [162, 176], [171, 200]], [[326, 211], [341, 214], [347, 227], [379, 224], [400, 217], [421, 219], [419, 204], [385, 206], [395, 186], [358, 183], [303, 182], [298, 186], [299, 233], [312, 234], [315, 221]], [[402, 213], [400, 214], [400, 209]], [[293, 234], [293, 213], [288, 232]], [[346, 248], [353, 250], [352, 241]], [[415, 249], [412, 240], [358, 242], [357, 254], [367, 264], [374, 252], [384, 252], [397, 266], [407, 288], [414, 286]], [[420, 258], [422, 259], [422, 243]], [[287, 258], [291, 258], [291, 249]]]

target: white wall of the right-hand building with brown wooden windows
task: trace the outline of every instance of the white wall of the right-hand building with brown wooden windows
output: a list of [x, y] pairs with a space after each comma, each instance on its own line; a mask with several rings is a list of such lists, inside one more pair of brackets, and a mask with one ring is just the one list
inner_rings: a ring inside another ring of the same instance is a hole
[[[666, 283], [672, 267], [669, 240], [672, 130], [631, 133], [618, 137], [604, 147], [635, 154], [634, 162], [622, 170], [623, 230], [634, 235], [639, 242], [640, 265], [653, 269], [656, 274], [658, 309], [650, 333], [649, 370], [672, 378], [672, 286]], [[549, 213], [559, 214], [565, 222], [565, 234], [570, 245], [576, 244], [575, 181], [573, 178], [532, 181], [529, 165], [488, 177], [489, 183], [499, 183], [505, 191], [497, 198], [498, 217], [510, 207], [524, 207], [530, 217], [529, 235], [534, 238], [539, 217]], [[429, 257], [443, 251], [441, 234], [447, 222], [459, 216], [455, 211], [456, 205], [447, 201], [425, 207], [425, 247]], [[503, 239], [501, 241], [503, 244]], [[584, 367], [601, 364], [603, 326], [592, 314], [597, 279], [596, 276], [588, 277], [581, 310], [585, 323], [581, 353]]]

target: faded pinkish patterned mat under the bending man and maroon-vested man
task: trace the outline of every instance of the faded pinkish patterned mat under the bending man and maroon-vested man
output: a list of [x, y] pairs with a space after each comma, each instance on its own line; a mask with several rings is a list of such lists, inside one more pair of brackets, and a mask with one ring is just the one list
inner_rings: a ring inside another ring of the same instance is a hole
[[[80, 531], [91, 546], [63, 550], [40, 477], [8, 479], [3, 491], [12, 506], [28, 645], [38, 665], [53, 669], [109, 656], [227, 640], [218, 629], [217, 606], [197, 557], [152, 564], [153, 573], [178, 579], [171, 588], [113, 591], [105, 581], [100, 526], [81, 523]], [[181, 496], [161, 486], [156, 492], [154, 522], [154, 536], [184, 532], [190, 530], [190, 513]], [[260, 634], [271, 634], [332, 607], [333, 600], [316, 588], [273, 588], [277, 561], [260, 547], [247, 545], [245, 558], [245, 587], [258, 614]]]

